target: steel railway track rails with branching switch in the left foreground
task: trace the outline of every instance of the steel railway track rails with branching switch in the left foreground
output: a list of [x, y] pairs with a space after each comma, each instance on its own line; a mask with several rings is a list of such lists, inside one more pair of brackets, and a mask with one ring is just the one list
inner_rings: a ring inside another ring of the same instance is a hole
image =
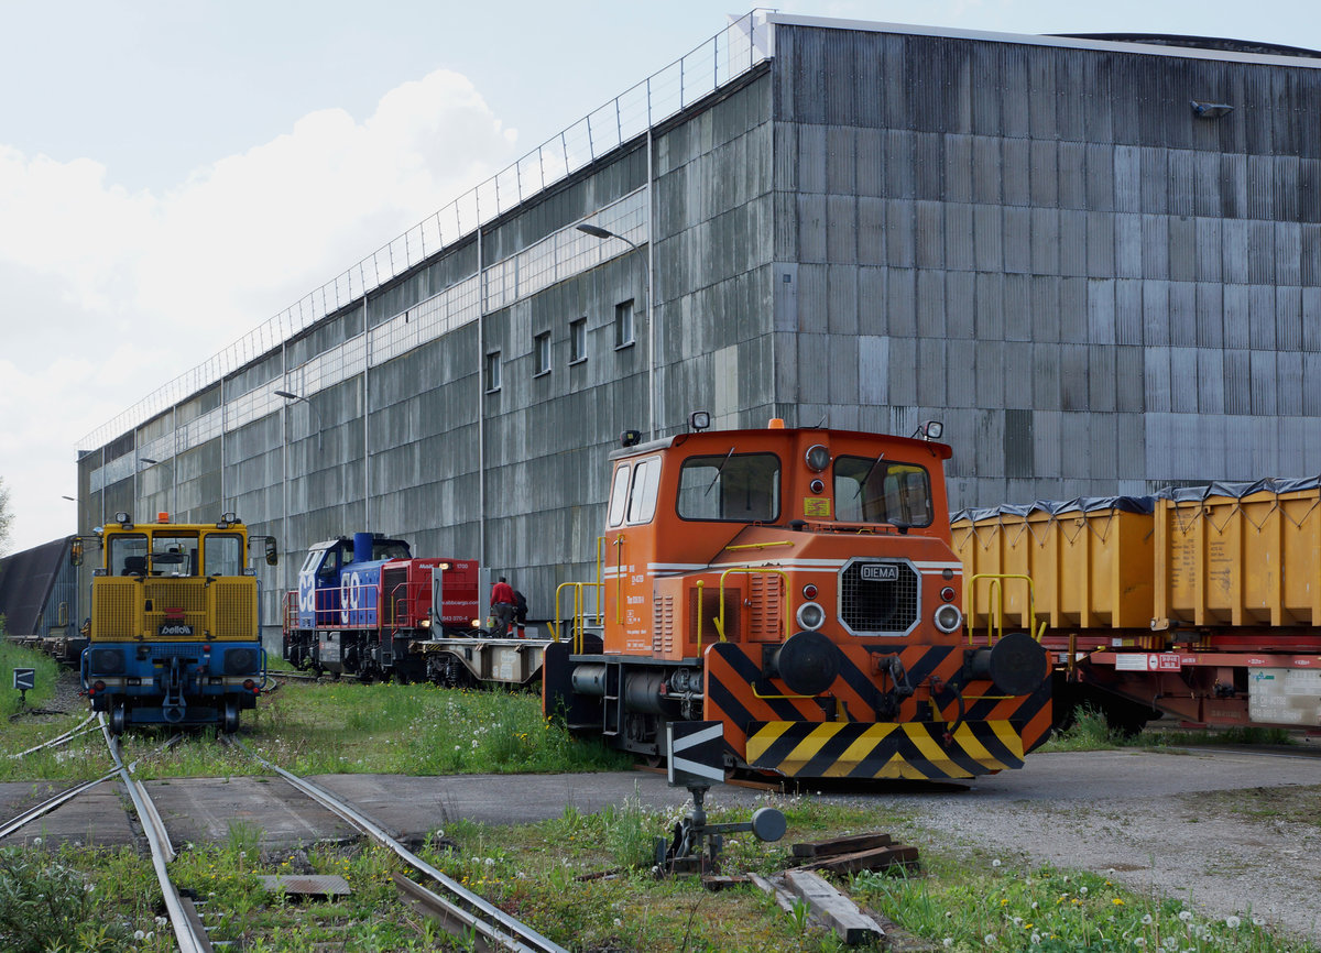
[[[147, 788], [133, 776], [136, 763], [124, 764], [119, 740], [111, 735], [104, 715], [99, 715], [99, 727], [106, 738], [115, 768], [100, 777], [61, 792], [0, 825], [0, 838], [8, 837], [24, 825], [69, 803], [78, 795], [118, 776], [132, 801], [133, 812], [137, 814], [139, 824], [141, 825], [143, 836], [151, 853], [152, 869], [156, 872], [170, 928], [174, 932], [174, 938], [178, 942], [181, 953], [210, 953], [213, 950], [211, 941], [197, 905], [170, 879], [169, 865], [174, 859], [176, 851], [160, 812], [156, 809]], [[79, 729], [82, 727], [79, 726]], [[75, 729], [73, 733], [69, 733], [69, 737], [75, 737], [78, 733], [79, 730]], [[52, 739], [24, 754], [63, 743], [69, 737]], [[180, 738], [181, 735], [172, 738], [166, 742], [166, 747]], [[412, 876], [394, 876], [402, 903], [408, 903], [423, 913], [439, 920], [445, 929], [454, 935], [476, 938], [480, 942], [478, 949], [515, 950], [517, 953], [567, 953], [563, 946], [542, 936], [527, 924], [510, 916], [495, 904], [468, 890], [408, 850], [349, 801], [268, 762], [232, 737], [222, 737], [221, 740], [240, 751], [256, 764], [260, 764], [266, 771], [281, 777], [296, 791], [346, 821], [373, 842], [394, 853], [412, 872]]]

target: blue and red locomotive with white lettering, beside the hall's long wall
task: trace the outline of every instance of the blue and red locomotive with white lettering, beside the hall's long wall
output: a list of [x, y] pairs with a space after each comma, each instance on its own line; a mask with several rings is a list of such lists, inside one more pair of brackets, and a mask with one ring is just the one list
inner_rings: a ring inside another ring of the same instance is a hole
[[403, 540], [341, 536], [308, 550], [285, 599], [284, 657], [317, 672], [416, 681], [427, 667], [410, 645], [470, 634], [477, 611], [474, 560], [413, 558]]

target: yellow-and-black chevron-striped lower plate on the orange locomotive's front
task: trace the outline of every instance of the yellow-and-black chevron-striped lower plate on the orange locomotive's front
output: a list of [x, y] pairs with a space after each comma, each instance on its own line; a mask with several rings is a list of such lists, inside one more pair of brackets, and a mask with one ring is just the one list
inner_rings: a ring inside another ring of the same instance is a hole
[[947, 780], [1022, 767], [1022, 743], [1005, 721], [753, 722], [746, 762], [789, 777]]

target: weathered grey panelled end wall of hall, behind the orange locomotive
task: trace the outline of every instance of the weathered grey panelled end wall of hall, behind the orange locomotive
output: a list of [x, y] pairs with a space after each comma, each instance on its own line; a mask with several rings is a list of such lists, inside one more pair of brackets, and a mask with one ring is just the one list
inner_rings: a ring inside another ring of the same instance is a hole
[[1321, 469], [1293, 62], [777, 26], [781, 399], [943, 418], [962, 504]]

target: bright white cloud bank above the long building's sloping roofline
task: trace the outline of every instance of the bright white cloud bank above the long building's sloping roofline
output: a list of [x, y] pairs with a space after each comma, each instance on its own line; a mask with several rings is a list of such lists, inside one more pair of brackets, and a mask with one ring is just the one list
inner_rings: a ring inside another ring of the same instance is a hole
[[[0, 475], [13, 549], [71, 532], [74, 441], [509, 165], [515, 133], [440, 70], [357, 121], [128, 191], [0, 144]], [[3, 280], [8, 276], [9, 280]]]

